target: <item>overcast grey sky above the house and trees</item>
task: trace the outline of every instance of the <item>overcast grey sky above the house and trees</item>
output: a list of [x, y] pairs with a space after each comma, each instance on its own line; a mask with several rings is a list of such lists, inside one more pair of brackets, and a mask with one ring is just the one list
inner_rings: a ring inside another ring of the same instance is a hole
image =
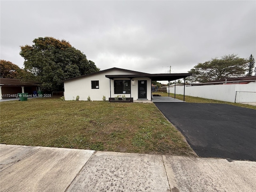
[[256, 57], [256, 1], [0, 1], [0, 58], [65, 39], [101, 70], [188, 72], [227, 54]]

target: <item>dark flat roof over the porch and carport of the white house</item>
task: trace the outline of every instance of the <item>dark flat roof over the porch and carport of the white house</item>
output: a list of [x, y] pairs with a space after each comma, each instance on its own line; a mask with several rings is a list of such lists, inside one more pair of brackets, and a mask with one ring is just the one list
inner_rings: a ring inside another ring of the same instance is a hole
[[106, 75], [106, 78], [114, 79], [114, 78], [136, 78], [136, 77], [148, 77], [151, 78], [152, 81], [173, 81], [181, 78], [186, 78], [191, 76], [192, 73], [170, 73], [170, 74], [131, 74], [131, 75]]

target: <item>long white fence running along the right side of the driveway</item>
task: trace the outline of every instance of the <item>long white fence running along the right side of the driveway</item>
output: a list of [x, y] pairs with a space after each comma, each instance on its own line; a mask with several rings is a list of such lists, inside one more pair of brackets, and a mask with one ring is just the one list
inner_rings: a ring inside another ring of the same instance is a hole
[[[167, 87], [168, 92], [168, 87]], [[223, 84], [223, 85], [204, 85], [186, 86], [185, 95], [214, 99], [226, 102], [235, 102], [237, 92], [253, 92], [239, 97], [239, 102], [256, 102], [256, 83], [250, 84]], [[170, 87], [170, 93], [174, 93], [174, 87]], [[183, 86], [176, 86], [176, 94], [184, 94]], [[252, 97], [251, 95], [254, 94]], [[250, 97], [250, 98], [246, 98]]]

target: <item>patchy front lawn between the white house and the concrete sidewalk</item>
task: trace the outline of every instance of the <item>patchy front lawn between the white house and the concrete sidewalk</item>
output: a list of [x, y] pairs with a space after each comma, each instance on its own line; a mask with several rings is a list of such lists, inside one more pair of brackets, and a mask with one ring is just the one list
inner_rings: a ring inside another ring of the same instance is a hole
[[0, 103], [0, 143], [194, 156], [153, 103], [34, 98]]

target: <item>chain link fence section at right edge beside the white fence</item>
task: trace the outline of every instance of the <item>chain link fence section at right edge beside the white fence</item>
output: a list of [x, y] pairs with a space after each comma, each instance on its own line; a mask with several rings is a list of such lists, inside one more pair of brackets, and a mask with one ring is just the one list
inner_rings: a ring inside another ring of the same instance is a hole
[[235, 103], [243, 103], [256, 106], [256, 92], [236, 91]]

